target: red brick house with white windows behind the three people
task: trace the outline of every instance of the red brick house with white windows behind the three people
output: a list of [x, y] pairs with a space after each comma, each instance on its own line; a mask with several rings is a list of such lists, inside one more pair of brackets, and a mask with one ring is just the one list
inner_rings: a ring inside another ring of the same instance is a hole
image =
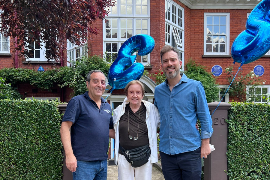
[[[111, 61], [116, 58], [118, 49], [128, 38], [136, 34], [148, 34], [155, 39], [155, 48], [150, 55], [138, 57], [137, 61], [145, 65], [150, 73], [161, 69], [160, 50], [167, 44], [176, 46], [181, 53], [183, 65], [192, 58], [207, 66], [210, 70], [214, 65], [220, 65], [223, 73], [217, 77], [220, 87], [226, 88], [228, 81], [224, 70], [232, 65], [230, 49], [232, 42], [245, 30], [248, 14], [259, 3], [259, 0], [118, 0], [107, 21], [98, 20], [94, 27], [99, 29], [98, 35], [89, 35], [87, 46], [75, 47], [67, 42], [67, 50], [63, 51], [60, 62], [49, 63], [44, 58], [45, 49], [33, 44], [34, 56], [27, 61], [13, 51], [12, 38], [0, 39], [0, 68], [19, 67], [38, 69], [40, 65], [46, 68], [53, 66], [72, 66], [69, 61], [79, 60], [85, 55], [86, 48], [91, 55], [110, 55]], [[266, 80], [256, 89], [258, 95], [270, 92], [270, 53], [263, 58], [242, 66], [242, 74], [249, 73], [256, 65], [264, 67], [260, 77]], [[31, 61], [29, 61], [31, 60]], [[234, 65], [237, 71], [240, 64]], [[183, 66], [184, 67], [184, 66]], [[184, 70], [184, 69], [182, 69]], [[210, 71], [209, 70], [209, 71]], [[143, 76], [140, 79], [146, 86], [145, 100], [153, 102], [155, 82]], [[108, 86], [109, 88], [109, 86]], [[68, 101], [70, 89], [55, 88], [52, 92], [40, 91], [27, 84], [20, 84], [19, 91], [25, 97], [37, 99], [54, 99]], [[114, 90], [113, 94], [105, 92], [108, 102], [114, 109], [123, 102], [125, 95], [122, 90]], [[226, 95], [226, 102], [235, 99]], [[258, 103], [262, 102], [261, 99]]]

